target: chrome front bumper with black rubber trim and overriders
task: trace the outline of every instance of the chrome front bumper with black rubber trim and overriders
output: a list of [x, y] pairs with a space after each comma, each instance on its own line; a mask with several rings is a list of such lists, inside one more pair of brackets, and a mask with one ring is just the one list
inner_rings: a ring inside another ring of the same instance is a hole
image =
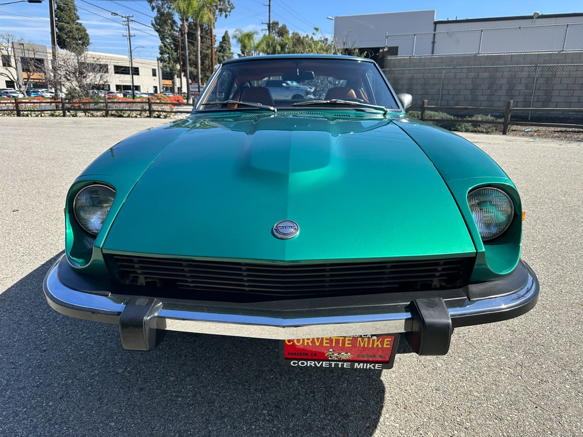
[[[428, 325], [433, 323], [431, 318], [438, 319], [438, 325], [448, 322], [451, 327], [511, 319], [533, 308], [539, 294], [536, 275], [524, 262], [519, 263], [508, 279], [492, 283], [490, 295], [497, 297], [470, 300], [468, 295], [472, 293], [459, 289], [448, 291], [444, 298], [412, 292], [409, 298], [403, 299], [403, 294], [399, 294], [400, 299], [394, 301], [393, 295], [387, 293], [371, 295], [365, 305], [357, 303], [362, 300], [361, 296], [343, 297], [343, 304], [336, 305], [333, 311], [314, 308], [311, 304], [315, 299], [308, 305], [312, 308], [296, 306], [291, 311], [278, 311], [280, 305], [276, 302], [269, 308], [255, 311], [244, 305], [222, 306], [216, 302], [206, 305], [206, 302], [184, 299], [111, 294], [104, 287], [87, 292], [75, 289], [82, 287], [71, 286], [70, 280], [61, 279], [71, 275], [76, 273], [64, 256], [51, 267], [43, 284], [48, 304], [68, 316], [120, 326], [122, 345], [132, 350], [152, 349], [154, 337], [161, 330], [280, 340], [419, 331], [430, 335], [431, 328], [437, 326]], [[435, 302], [430, 302], [432, 300]], [[424, 310], [426, 303], [429, 309]], [[422, 308], [412, 311], [417, 306]], [[424, 311], [437, 313], [424, 315]], [[426, 343], [430, 340], [436, 339], [425, 339]], [[443, 341], [445, 343], [445, 339]]]

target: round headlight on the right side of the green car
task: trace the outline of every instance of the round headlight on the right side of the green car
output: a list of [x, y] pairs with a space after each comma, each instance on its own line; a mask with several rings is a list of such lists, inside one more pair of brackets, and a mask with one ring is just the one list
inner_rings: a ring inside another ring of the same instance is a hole
[[514, 217], [512, 200], [498, 188], [478, 188], [470, 192], [468, 204], [483, 241], [502, 235]]

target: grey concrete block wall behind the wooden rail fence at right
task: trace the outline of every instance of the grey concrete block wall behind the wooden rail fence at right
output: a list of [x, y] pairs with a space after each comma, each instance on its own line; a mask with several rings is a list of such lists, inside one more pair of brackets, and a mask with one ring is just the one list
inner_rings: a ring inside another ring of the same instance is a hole
[[583, 108], [583, 51], [388, 57], [384, 72], [413, 105]]

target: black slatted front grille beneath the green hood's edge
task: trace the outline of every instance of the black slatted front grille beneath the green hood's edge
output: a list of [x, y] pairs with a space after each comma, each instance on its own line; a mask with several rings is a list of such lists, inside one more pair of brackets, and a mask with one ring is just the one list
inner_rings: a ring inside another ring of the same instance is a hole
[[286, 296], [461, 287], [468, 283], [473, 262], [456, 258], [275, 265], [125, 255], [107, 260], [121, 284]]

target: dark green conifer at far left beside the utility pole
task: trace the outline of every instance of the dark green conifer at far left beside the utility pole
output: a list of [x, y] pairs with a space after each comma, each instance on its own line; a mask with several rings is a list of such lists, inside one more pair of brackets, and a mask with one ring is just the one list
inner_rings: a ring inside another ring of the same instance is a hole
[[71, 0], [56, 0], [55, 30], [57, 45], [63, 50], [80, 54], [89, 47], [89, 34], [79, 22], [77, 5]]

